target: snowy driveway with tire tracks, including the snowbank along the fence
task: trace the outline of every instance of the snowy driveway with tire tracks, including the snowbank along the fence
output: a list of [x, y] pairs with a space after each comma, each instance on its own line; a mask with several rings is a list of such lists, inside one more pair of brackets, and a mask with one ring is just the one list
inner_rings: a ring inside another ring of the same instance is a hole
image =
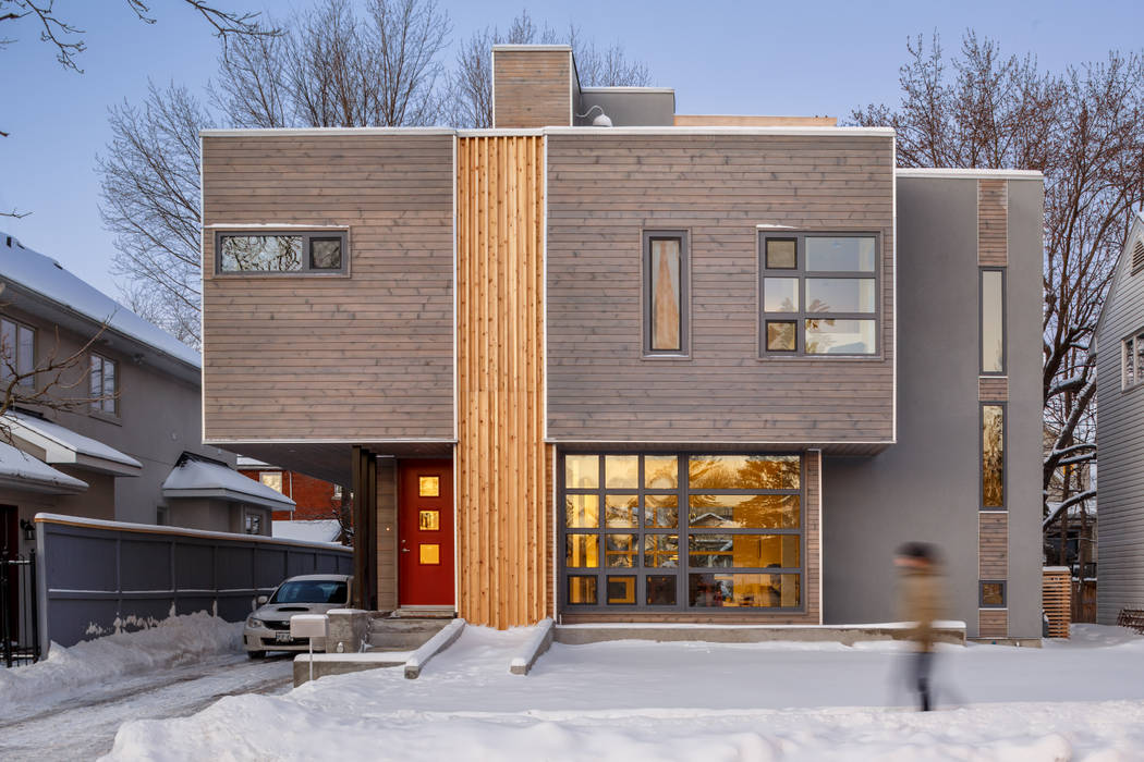
[[222, 696], [283, 692], [286, 657], [247, 663], [241, 624], [206, 613], [61, 648], [0, 668], [0, 759], [87, 760], [111, 749], [128, 720], [182, 716]]

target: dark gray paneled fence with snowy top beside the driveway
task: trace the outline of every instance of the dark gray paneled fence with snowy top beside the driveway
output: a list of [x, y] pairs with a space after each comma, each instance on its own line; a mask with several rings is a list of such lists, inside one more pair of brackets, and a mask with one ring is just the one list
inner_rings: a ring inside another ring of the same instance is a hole
[[228, 621], [283, 579], [352, 573], [352, 552], [325, 543], [151, 527], [41, 513], [40, 643], [72, 645], [208, 611]]

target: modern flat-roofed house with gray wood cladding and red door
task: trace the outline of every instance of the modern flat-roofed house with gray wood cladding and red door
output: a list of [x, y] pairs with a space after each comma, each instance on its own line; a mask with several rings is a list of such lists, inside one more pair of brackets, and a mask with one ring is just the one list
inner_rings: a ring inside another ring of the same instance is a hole
[[1042, 177], [493, 77], [492, 130], [201, 135], [204, 435], [353, 490], [358, 604], [885, 621], [929, 540], [1038, 637]]

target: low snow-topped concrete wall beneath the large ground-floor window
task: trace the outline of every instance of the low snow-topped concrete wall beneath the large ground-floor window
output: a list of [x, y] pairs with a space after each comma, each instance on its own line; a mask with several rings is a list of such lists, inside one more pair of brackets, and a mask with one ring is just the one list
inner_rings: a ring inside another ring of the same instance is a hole
[[[966, 624], [939, 623], [935, 639], [939, 643], [966, 644]], [[900, 623], [876, 625], [557, 625], [557, 643], [583, 645], [611, 640], [657, 642], [699, 641], [708, 643], [765, 643], [772, 641], [834, 642], [853, 645], [879, 640], [908, 640], [909, 628]]]

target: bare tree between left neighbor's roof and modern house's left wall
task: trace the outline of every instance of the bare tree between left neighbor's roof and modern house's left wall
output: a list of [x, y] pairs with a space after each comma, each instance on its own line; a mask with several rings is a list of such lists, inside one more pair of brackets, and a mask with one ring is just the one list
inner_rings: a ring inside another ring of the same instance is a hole
[[116, 234], [112, 273], [144, 316], [199, 342], [199, 136], [213, 121], [186, 88], [151, 83], [141, 106], [111, 109], [112, 142], [96, 159], [100, 206]]

